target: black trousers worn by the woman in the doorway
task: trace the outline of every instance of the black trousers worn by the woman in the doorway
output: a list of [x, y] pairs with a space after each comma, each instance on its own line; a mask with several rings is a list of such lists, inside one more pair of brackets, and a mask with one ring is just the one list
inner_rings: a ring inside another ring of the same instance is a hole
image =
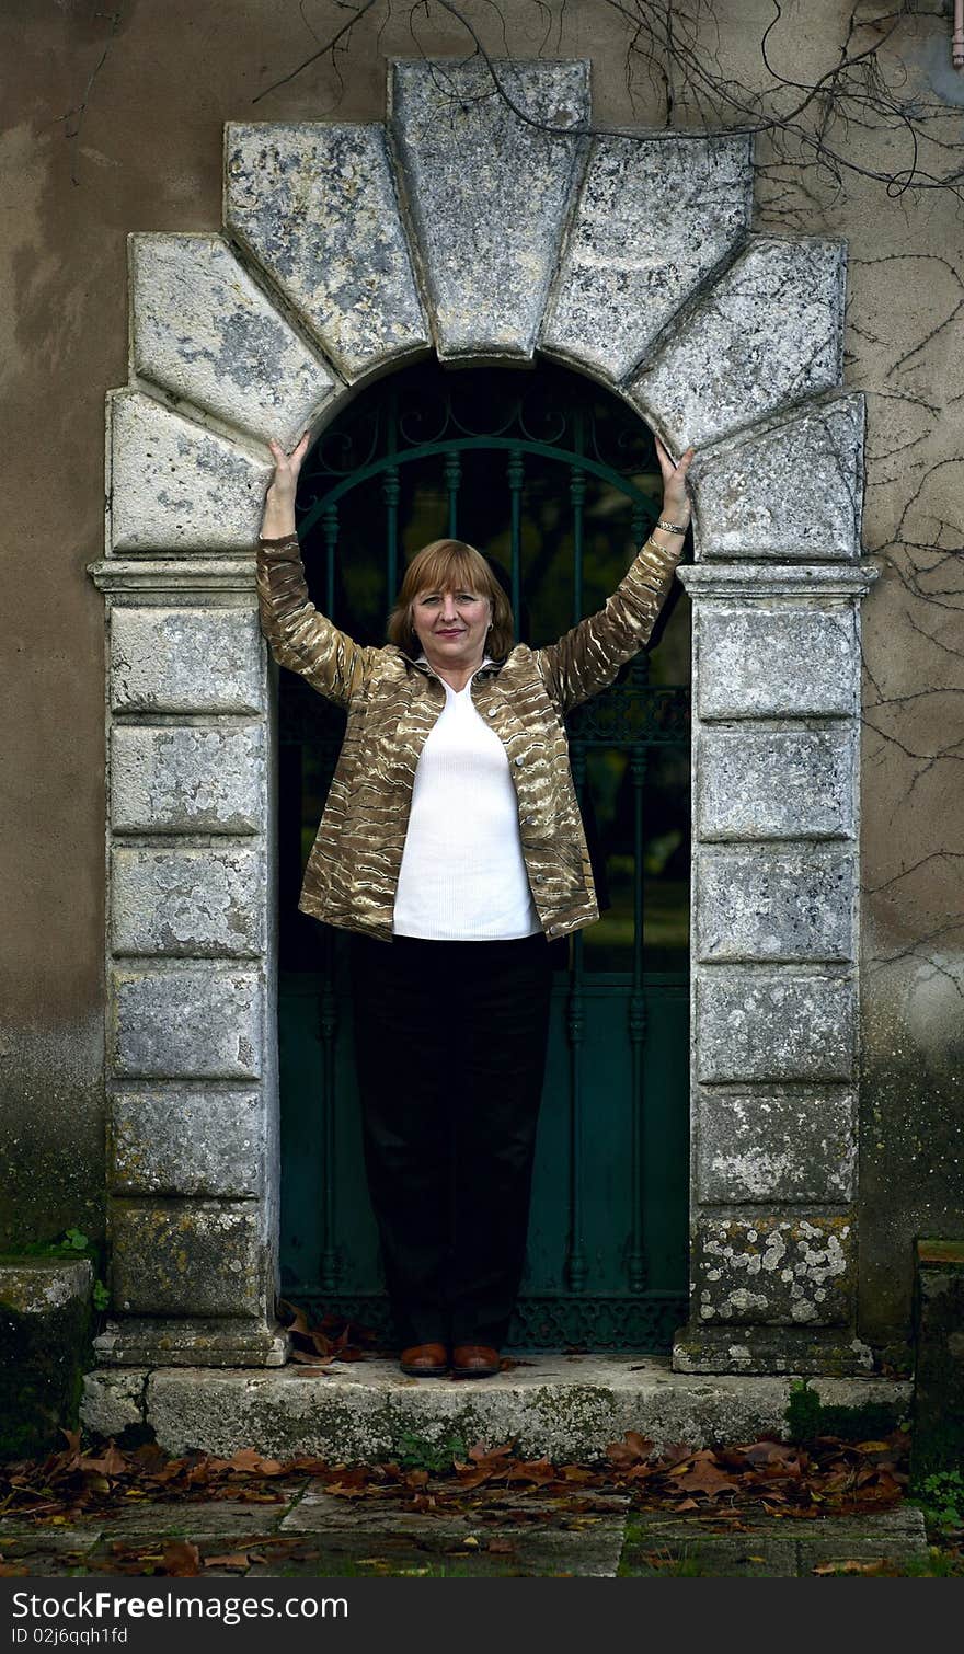
[[352, 933], [362, 1138], [402, 1346], [506, 1338], [526, 1257], [552, 946]]

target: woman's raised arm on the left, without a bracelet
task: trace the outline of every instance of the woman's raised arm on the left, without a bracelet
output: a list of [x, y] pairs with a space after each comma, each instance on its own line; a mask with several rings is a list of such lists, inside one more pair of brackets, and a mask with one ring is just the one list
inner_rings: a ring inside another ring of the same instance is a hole
[[301, 673], [319, 695], [347, 706], [362, 686], [377, 650], [362, 648], [319, 614], [308, 595], [301, 546], [294, 529], [298, 473], [308, 432], [291, 453], [271, 438], [274, 476], [265, 496], [258, 541], [256, 586], [261, 632], [274, 660]]

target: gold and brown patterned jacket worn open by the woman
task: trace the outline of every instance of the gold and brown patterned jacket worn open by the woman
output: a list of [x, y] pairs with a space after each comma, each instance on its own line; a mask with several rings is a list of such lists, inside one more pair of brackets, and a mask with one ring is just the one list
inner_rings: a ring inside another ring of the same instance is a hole
[[[549, 938], [599, 918], [562, 718], [643, 648], [678, 561], [680, 551], [648, 541], [599, 614], [557, 643], [519, 643], [471, 681], [478, 711], [506, 748], [532, 900]], [[390, 941], [415, 766], [445, 686], [427, 662], [395, 645], [362, 647], [319, 614], [296, 536], [260, 541], [256, 582], [274, 660], [347, 711], [298, 906]]]

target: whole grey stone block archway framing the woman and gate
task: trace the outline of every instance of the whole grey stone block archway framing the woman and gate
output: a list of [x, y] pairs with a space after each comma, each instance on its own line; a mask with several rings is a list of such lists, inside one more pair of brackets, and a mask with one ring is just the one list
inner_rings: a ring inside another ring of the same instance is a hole
[[[845, 246], [749, 230], [744, 136], [587, 141], [587, 63], [398, 61], [385, 124], [228, 126], [223, 235], [131, 237], [107, 399], [107, 1103], [119, 1365], [273, 1366], [266, 438], [400, 361], [557, 357], [693, 468], [686, 1371], [855, 1336], [863, 400]], [[663, 203], [675, 202], [671, 222]]]

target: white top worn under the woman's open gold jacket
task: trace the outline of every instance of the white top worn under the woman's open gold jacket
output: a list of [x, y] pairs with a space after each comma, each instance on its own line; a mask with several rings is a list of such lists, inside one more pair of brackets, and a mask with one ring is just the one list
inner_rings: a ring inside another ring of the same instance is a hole
[[506, 749], [480, 716], [471, 678], [415, 769], [392, 930], [432, 941], [508, 941], [542, 926], [529, 890]]

